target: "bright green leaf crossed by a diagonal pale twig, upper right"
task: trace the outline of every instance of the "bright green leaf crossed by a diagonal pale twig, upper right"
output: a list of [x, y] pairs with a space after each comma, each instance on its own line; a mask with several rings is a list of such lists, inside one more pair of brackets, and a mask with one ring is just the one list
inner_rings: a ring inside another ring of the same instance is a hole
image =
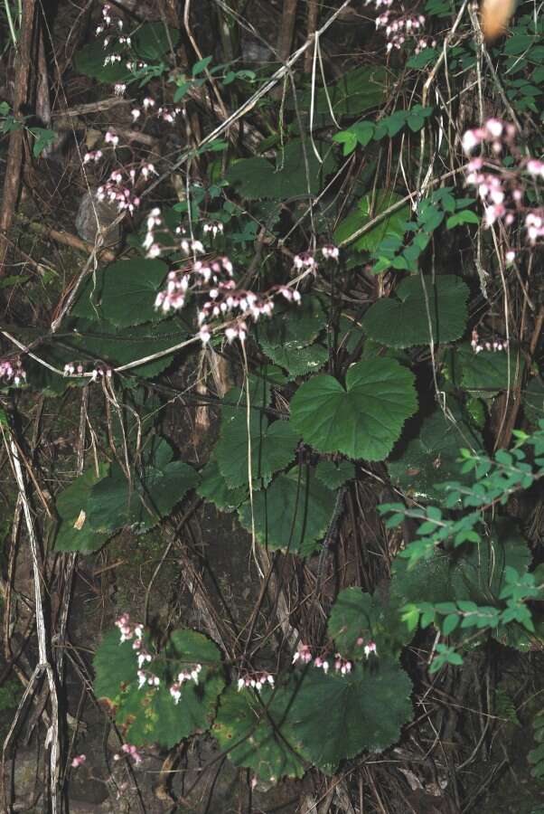
[[[375, 196], [372, 194], [363, 195], [356, 208], [352, 210], [352, 213], [336, 228], [334, 232], [334, 242], [340, 244], [343, 241], [349, 240], [354, 232], [359, 231], [373, 218], [377, 217], [386, 209], [389, 209], [389, 206], [397, 204], [400, 200], [400, 195], [388, 192], [387, 190], [379, 190]], [[377, 223], [369, 232], [361, 235], [361, 237], [352, 244], [353, 249], [356, 251], [377, 251], [380, 242], [387, 236], [393, 235], [401, 238], [404, 235], [404, 225], [408, 217], [409, 207], [408, 205], [403, 206], [397, 212], [390, 214], [389, 217]]]

